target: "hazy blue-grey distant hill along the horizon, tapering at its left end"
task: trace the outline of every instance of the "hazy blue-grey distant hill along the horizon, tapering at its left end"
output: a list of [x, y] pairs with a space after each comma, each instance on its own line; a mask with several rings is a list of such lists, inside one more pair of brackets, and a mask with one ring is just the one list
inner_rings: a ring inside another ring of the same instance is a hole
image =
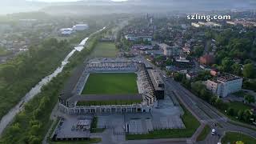
[[255, 9], [254, 0], [86, 0], [62, 3], [42, 9], [50, 14], [112, 14], [112, 13], [166, 13], [172, 10], [189, 12], [198, 10]]

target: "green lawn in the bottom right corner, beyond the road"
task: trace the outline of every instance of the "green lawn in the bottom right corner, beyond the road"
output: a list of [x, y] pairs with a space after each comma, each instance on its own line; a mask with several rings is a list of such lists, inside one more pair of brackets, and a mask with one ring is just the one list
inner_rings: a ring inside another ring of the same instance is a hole
[[226, 144], [228, 142], [235, 143], [237, 141], [242, 141], [245, 144], [255, 144], [256, 139], [251, 138], [249, 135], [235, 133], [235, 132], [227, 132], [225, 136], [222, 138], [222, 143]]

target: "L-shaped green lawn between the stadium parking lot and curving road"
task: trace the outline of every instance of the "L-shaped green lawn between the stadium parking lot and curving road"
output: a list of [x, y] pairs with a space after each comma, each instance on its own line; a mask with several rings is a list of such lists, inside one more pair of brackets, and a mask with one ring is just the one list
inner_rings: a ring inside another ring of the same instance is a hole
[[189, 110], [186, 110], [185, 106], [182, 105], [184, 114], [182, 115], [182, 121], [184, 122], [186, 129], [170, 129], [170, 130], [154, 130], [149, 134], [126, 134], [126, 139], [158, 139], [158, 138], [190, 138], [194, 132], [200, 126], [197, 118], [194, 118], [194, 115], [190, 113]]

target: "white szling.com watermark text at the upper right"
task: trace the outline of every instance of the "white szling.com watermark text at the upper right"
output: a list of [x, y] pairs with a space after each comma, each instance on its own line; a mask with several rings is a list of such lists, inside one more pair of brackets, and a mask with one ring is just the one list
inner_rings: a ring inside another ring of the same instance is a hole
[[211, 20], [230, 20], [231, 16], [230, 15], [199, 15], [199, 14], [194, 14], [194, 15], [187, 15], [186, 19], [187, 20], [205, 20], [207, 22], [210, 22]]

